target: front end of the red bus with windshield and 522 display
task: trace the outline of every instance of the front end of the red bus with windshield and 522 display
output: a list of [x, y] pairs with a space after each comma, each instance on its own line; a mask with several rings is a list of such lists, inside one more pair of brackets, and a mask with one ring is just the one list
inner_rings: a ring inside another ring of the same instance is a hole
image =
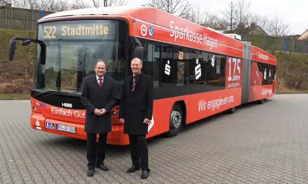
[[[102, 59], [107, 63], [106, 75], [116, 80], [120, 92], [130, 61], [128, 30], [127, 21], [114, 17], [60, 17], [38, 22], [40, 44], [31, 91], [32, 128], [86, 139], [85, 109], [80, 99], [82, 80], [95, 74], [94, 65]], [[118, 120], [119, 104], [120, 99], [112, 111], [109, 144], [128, 144]]]

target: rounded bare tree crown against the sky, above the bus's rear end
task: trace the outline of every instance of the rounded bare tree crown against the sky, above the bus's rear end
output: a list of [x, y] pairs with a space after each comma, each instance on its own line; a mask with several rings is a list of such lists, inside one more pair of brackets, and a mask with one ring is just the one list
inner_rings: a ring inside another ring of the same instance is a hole
[[269, 32], [270, 35], [274, 37], [287, 36], [290, 34], [289, 24], [284, 23], [282, 19], [275, 17], [270, 23]]

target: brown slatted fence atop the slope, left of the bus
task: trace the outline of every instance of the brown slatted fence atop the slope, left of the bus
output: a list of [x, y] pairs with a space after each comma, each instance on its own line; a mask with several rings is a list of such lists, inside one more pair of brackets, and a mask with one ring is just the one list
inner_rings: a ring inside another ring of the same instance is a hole
[[51, 13], [53, 12], [3, 6], [0, 7], [0, 28], [35, 30], [36, 21]]

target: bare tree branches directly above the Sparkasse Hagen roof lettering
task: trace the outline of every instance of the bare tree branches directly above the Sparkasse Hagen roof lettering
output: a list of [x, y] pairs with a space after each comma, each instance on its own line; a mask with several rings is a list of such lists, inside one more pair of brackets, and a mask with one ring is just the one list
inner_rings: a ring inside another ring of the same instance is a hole
[[191, 10], [189, 0], [152, 0], [147, 5], [164, 10], [178, 17], [188, 17]]

